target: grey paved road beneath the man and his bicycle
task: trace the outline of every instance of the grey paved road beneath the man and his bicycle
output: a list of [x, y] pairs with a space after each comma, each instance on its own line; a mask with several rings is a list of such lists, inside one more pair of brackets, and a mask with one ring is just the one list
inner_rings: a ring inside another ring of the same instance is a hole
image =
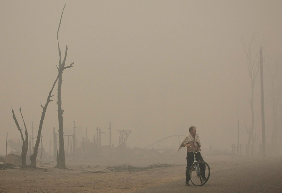
[[246, 167], [212, 171], [203, 186], [185, 186], [185, 179], [160, 186], [146, 188], [134, 193], [179, 193], [179, 192], [216, 192], [216, 193], [282, 193], [282, 158], [271, 163], [262, 160]]

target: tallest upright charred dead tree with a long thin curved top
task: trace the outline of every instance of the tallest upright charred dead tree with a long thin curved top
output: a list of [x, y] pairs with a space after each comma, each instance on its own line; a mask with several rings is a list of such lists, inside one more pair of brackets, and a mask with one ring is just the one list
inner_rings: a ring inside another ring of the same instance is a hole
[[[65, 4], [66, 5], [66, 4]], [[59, 34], [59, 29], [61, 26], [61, 21], [62, 21], [62, 17], [63, 17], [63, 12], [64, 12], [65, 6], [63, 8], [62, 11], [62, 15], [61, 15], [61, 19], [60, 19], [60, 23], [59, 23], [59, 27], [58, 27], [58, 31], [57, 31], [57, 41], [58, 41], [58, 50], [59, 50], [59, 67], [57, 67], [58, 71], [62, 71], [62, 73], [59, 76], [58, 79], [58, 101], [57, 101], [57, 105], [58, 105], [58, 121], [59, 121], [59, 153], [57, 156], [57, 165], [55, 166], [56, 168], [60, 168], [60, 169], [67, 169], [65, 167], [65, 147], [64, 147], [64, 132], [63, 132], [63, 112], [64, 110], [62, 110], [62, 101], [61, 101], [61, 89], [62, 89], [62, 77], [63, 77], [63, 69], [65, 67], [65, 60], [67, 58], [67, 46], [65, 47], [65, 57], [63, 59], [63, 62], [61, 61], [61, 50], [60, 50], [60, 46], [59, 46], [59, 39], [58, 39], [58, 34]], [[74, 63], [72, 63], [71, 65], [73, 65]]]

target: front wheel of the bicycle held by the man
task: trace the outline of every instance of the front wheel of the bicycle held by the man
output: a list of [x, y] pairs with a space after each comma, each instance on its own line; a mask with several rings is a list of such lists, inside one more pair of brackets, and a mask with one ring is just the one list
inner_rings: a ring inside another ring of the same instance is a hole
[[210, 177], [210, 166], [205, 161], [196, 161], [196, 165], [194, 163], [190, 167], [189, 175], [192, 184], [202, 186], [206, 184]]

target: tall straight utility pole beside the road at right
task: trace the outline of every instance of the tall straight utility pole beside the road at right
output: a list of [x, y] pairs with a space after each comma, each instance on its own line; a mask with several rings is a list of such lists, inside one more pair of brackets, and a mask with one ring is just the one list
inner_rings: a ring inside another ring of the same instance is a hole
[[261, 98], [261, 126], [262, 126], [262, 157], [266, 157], [265, 123], [264, 123], [264, 93], [263, 93], [262, 47], [260, 47], [260, 98]]

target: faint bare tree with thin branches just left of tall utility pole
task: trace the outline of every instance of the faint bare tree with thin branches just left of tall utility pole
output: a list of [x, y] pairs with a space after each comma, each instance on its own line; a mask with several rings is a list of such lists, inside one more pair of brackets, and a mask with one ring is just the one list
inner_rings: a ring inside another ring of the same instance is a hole
[[[242, 38], [241, 38], [242, 40]], [[247, 62], [247, 66], [248, 66], [248, 73], [249, 73], [249, 77], [251, 79], [251, 99], [248, 98], [249, 102], [250, 102], [250, 107], [251, 107], [251, 112], [252, 112], [252, 121], [251, 121], [251, 127], [250, 130], [248, 132], [249, 137], [248, 137], [248, 148], [247, 148], [247, 152], [246, 155], [249, 155], [249, 147], [251, 145], [251, 141], [252, 141], [252, 135], [253, 135], [253, 131], [254, 131], [254, 85], [255, 85], [255, 80], [256, 80], [256, 76], [258, 75], [258, 70], [259, 70], [259, 62], [258, 62], [258, 51], [256, 51], [256, 45], [254, 44], [254, 40], [255, 40], [255, 34], [253, 34], [250, 42], [246, 43], [242, 40], [242, 44], [244, 47], [244, 51], [246, 54], [246, 62]], [[253, 52], [255, 52], [254, 56], [253, 56]]]

